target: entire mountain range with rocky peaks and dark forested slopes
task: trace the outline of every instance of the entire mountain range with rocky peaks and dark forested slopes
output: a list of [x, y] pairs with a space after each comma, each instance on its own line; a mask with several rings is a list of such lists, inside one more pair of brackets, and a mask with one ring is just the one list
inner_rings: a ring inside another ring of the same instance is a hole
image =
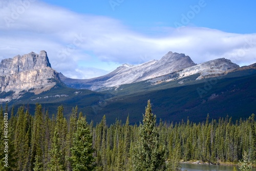
[[41, 51], [1, 61], [0, 102], [26, 104], [31, 112], [38, 102], [51, 113], [64, 104], [67, 114], [78, 105], [94, 121], [108, 115], [112, 123], [130, 115], [136, 123], [151, 99], [155, 114], [167, 121], [188, 116], [201, 121], [207, 113], [239, 119], [256, 110], [255, 77], [256, 64], [239, 67], [225, 58], [196, 64], [189, 56], [168, 52], [160, 60], [124, 64], [104, 76], [72, 79], [52, 69]]

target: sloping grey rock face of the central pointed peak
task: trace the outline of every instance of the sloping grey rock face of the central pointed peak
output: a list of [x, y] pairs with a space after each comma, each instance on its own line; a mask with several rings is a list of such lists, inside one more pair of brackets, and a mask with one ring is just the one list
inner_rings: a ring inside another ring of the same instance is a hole
[[189, 56], [168, 52], [160, 60], [151, 60], [137, 66], [124, 64], [101, 77], [84, 80], [61, 77], [61, 80], [73, 88], [97, 90], [151, 79], [195, 65]]

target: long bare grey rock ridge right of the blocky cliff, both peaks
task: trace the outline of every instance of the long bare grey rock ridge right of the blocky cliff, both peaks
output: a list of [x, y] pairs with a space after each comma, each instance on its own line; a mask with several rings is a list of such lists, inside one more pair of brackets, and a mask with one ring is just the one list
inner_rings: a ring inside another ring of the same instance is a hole
[[[179, 73], [178, 71], [181, 70], [183, 72], [180, 72], [179, 74], [183, 74], [182, 77], [202, 73], [201, 76], [203, 78], [204, 76], [223, 74], [228, 70], [231, 71], [237, 68], [239, 68], [239, 66], [232, 63], [229, 59], [219, 58], [196, 64], [189, 56], [185, 56], [185, 54], [169, 51], [160, 60], [150, 60], [137, 66], [123, 64], [113, 72], [100, 77], [91, 79], [72, 79], [60, 75], [60, 79], [71, 88], [100, 91], [111, 87], [117, 87], [121, 84], [159, 78], [174, 72]], [[193, 69], [197, 72], [192, 72], [191, 70]], [[208, 71], [206, 72], [207, 69]], [[202, 78], [199, 77], [198, 79]]]

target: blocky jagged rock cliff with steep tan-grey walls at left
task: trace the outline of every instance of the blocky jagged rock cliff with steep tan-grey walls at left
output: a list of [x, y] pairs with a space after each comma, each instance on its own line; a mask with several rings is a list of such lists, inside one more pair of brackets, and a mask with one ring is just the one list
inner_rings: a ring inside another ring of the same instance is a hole
[[56, 80], [58, 73], [51, 68], [46, 51], [17, 55], [0, 63], [0, 91], [15, 92], [13, 98], [18, 98], [21, 92], [39, 94], [49, 90]]

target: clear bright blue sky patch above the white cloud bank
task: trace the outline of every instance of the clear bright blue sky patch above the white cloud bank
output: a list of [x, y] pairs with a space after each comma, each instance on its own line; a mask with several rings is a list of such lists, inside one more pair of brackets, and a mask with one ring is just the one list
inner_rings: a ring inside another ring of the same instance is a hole
[[[116, 18], [124, 25], [140, 31], [152, 27], [175, 27], [181, 23], [181, 14], [187, 14], [190, 6], [202, 2], [198, 14], [189, 24], [196, 27], [218, 29], [229, 33], [255, 33], [256, 2], [217, 0], [162, 0], [162, 1], [51, 1], [44, 2], [84, 14], [103, 15]], [[120, 3], [118, 3], [120, 2]]]

